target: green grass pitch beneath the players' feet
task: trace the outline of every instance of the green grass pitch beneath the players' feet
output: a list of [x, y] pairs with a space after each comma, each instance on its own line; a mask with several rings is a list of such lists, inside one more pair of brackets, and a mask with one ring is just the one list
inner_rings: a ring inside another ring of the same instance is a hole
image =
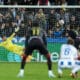
[[[25, 75], [18, 78], [17, 73], [20, 69], [20, 63], [0, 63], [0, 80], [80, 80], [69, 76], [70, 70], [63, 71], [62, 78], [48, 78], [46, 63], [27, 63], [25, 66]], [[57, 76], [57, 64], [53, 63], [53, 72]]]

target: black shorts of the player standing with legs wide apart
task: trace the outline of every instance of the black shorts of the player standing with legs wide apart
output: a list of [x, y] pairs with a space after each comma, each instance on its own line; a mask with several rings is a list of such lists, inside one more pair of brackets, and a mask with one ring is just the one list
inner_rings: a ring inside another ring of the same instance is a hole
[[29, 41], [25, 49], [25, 54], [31, 55], [33, 50], [38, 50], [43, 55], [48, 54], [45, 44], [39, 38], [33, 38]]

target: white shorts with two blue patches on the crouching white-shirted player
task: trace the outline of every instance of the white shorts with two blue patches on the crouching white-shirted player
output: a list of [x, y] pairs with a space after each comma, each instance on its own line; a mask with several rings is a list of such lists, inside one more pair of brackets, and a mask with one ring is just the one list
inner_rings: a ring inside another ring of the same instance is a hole
[[58, 67], [60, 68], [72, 68], [74, 66], [74, 60], [72, 59], [60, 59], [58, 61]]

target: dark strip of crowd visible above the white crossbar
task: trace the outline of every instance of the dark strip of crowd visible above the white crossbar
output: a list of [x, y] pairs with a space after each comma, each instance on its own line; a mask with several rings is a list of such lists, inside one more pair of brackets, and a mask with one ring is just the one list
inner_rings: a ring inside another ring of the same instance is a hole
[[80, 0], [0, 0], [1, 5], [80, 5]]

